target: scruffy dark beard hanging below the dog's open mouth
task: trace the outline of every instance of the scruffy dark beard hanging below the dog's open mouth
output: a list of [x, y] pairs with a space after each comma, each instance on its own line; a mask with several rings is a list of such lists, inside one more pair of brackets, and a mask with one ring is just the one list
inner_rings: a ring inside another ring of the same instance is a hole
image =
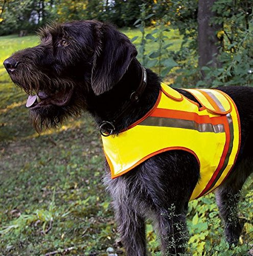
[[62, 122], [72, 116], [78, 116], [80, 111], [78, 108], [71, 108], [70, 106], [59, 107], [55, 105], [44, 106], [30, 110], [30, 120], [37, 133], [43, 130], [56, 128]]

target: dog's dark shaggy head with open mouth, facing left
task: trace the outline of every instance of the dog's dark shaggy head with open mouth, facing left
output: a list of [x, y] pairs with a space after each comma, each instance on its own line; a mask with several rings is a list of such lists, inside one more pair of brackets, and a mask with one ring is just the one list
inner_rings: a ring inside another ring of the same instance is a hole
[[51, 24], [39, 36], [38, 46], [4, 61], [12, 81], [29, 95], [37, 131], [85, 110], [87, 98], [111, 90], [137, 55], [124, 34], [96, 20]]

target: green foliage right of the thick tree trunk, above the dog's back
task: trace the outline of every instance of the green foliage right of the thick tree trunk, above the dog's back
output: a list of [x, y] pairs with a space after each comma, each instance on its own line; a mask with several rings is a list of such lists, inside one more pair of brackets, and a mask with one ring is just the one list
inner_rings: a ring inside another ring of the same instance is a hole
[[218, 56], [220, 68], [206, 68], [206, 80], [215, 77], [213, 86], [253, 86], [252, 5], [253, 1], [220, 0], [213, 6], [217, 13], [213, 23], [223, 24], [223, 30], [217, 34], [223, 39]]

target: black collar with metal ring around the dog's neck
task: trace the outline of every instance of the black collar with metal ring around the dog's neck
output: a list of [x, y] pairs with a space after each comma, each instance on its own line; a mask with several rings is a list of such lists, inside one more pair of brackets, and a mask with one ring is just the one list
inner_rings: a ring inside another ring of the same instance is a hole
[[[142, 66], [141, 66], [142, 67]], [[125, 109], [116, 116], [112, 121], [102, 121], [99, 127], [99, 132], [102, 136], [108, 137], [110, 136], [115, 130], [119, 123], [122, 122], [122, 117], [128, 114], [131, 111], [131, 106], [139, 102], [143, 92], [145, 91], [147, 85], [147, 71], [144, 67], [142, 67], [142, 79], [137, 87], [137, 89], [131, 93], [129, 97], [129, 101], [127, 101], [125, 105]]]

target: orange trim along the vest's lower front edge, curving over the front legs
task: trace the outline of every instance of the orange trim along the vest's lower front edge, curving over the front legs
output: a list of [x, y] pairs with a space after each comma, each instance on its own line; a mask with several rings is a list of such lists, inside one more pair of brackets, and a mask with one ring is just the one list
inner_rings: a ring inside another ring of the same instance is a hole
[[[180, 146], [166, 147], [166, 148], [163, 148], [162, 150], [158, 150], [158, 151], [153, 152], [153, 153], [149, 154], [148, 156], [142, 158], [141, 160], [139, 160], [138, 162], [136, 162], [133, 166], [131, 166], [131, 167], [129, 167], [128, 169], [124, 170], [124, 172], [122, 172], [122, 173], [119, 173], [119, 174], [117, 174], [117, 175], [114, 175], [114, 174], [112, 174], [112, 172], [111, 172], [111, 178], [112, 178], [112, 179], [115, 179], [115, 178], [117, 178], [117, 177], [119, 177], [119, 176], [121, 176], [121, 175], [123, 175], [123, 174], [129, 172], [129, 170], [131, 170], [131, 169], [133, 169], [134, 167], [136, 167], [137, 165], [143, 163], [144, 161], [146, 161], [146, 160], [149, 159], [150, 157], [153, 157], [153, 156], [155, 156], [155, 155], [157, 155], [157, 154], [160, 154], [160, 153], [163, 153], [163, 152], [166, 152], [166, 151], [171, 151], [171, 150], [183, 150], [183, 151], [187, 151], [187, 152], [193, 154], [193, 155], [195, 156], [196, 160], [198, 161], [199, 166], [200, 166], [200, 161], [199, 161], [197, 155], [196, 155], [192, 150], [190, 150], [190, 148], [187, 148], [187, 147], [180, 147]], [[109, 158], [108, 158], [108, 156], [107, 156], [106, 154], [105, 154], [105, 157], [106, 157], [106, 159], [107, 159], [107, 161], [108, 161]], [[110, 162], [110, 161], [108, 162], [108, 164], [109, 164], [109, 166], [110, 166], [110, 169], [113, 170], [113, 166], [111, 165], [111, 162]]]

